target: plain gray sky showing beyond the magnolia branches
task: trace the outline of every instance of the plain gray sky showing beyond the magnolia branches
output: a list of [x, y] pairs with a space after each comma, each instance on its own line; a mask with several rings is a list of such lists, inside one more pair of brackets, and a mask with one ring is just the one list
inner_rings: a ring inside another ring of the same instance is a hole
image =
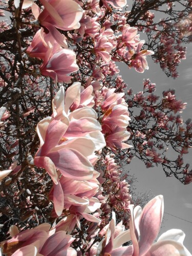
[[[142, 33], [140, 38], [142, 39]], [[156, 83], [156, 93], [162, 96], [162, 92], [166, 89], [176, 89], [176, 96], [178, 100], [187, 102], [187, 108], [181, 113], [184, 120], [191, 118], [192, 113], [192, 44], [187, 45], [187, 58], [182, 61], [179, 66], [180, 76], [174, 80], [172, 77], [167, 77], [159, 65], [154, 64], [151, 57], [147, 57], [149, 70], [144, 73], [137, 73], [134, 69], [129, 69], [123, 64], [118, 64], [120, 75], [125, 83], [132, 87], [134, 92], [142, 91], [143, 78], [150, 78], [151, 82]], [[191, 163], [192, 149], [186, 155], [186, 160]], [[192, 164], [192, 163], [191, 163]], [[191, 165], [190, 165], [191, 167]], [[152, 190], [154, 195], [162, 194], [164, 196], [164, 212], [178, 216], [189, 222], [180, 220], [164, 213], [164, 222], [160, 234], [168, 229], [178, 228], [185, 232], [186, 237], [184, 245], [192, 252], [192, 184], [183, 185], [174, 177], [166, 178], [161, 166], [146, 169], [144, 164], [138, 159], [133, 159], [127, 169], [131, 169], [138, 179], [136, 187], [138, 192]]]

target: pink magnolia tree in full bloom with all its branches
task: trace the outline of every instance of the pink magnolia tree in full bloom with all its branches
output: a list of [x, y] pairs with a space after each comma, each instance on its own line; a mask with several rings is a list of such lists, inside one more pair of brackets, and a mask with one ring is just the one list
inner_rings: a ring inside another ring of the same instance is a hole
[[[173, 90], [159, 100], [150, 80], [133, 95], [116, 66], [143, 73], [152, 55], [177, 76], [181, 43], [190, 41], [191, 1], [170, 1], [166, 11], [165, 4], [135, 1], [129, 10], [125, 0], [1, 1], [0, 15], [11, 15], [10, 24], [0, 23], [2, 253], [190, 255], [181, 230], [154, 243], [163, 197], [133, 209], [121, 175], [122, 164], [137, 156], [192, 181], [182, 158], [192, 124], [176, 115], [186, 103]], [[156, 22], [150, 10], [169, 18]], [[166, 157], [169, 145], [174, 160]], [[127, 241], [132, 245], [122, 246]]]

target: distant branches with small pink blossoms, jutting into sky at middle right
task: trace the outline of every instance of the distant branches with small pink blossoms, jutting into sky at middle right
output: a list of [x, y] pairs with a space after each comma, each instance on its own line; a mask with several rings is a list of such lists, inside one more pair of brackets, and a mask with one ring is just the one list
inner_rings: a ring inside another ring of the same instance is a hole
[[[133, 95], [133, 90], [127, 91], [127, 104], [130, 113], [134, 108], [141, 107], [137, 116], [131, 114], [132, 122], [127, 130], [131, 133], [131, 139], [134, 144], [134, 150], [126, 153], [128, 163], [134, 155], [145, 162], [147, 168], [153, 167], [153, 163], [161, 164], [167, 176], [174, 174], [178, 176], [184, 184], [188, 184], [191, 173], [188, 170], [189, 165], [185, 165], [183, 154], [188, 153], [191, 148], [191, 120], [185, 125], [178, 112], [182, 112], [186, 103], [177, 100], [175, 90], [163, 92], [163, 97], [159, 101], [159, 96], [154, 94], [156, 85], [150, 80], [143, 81], [143, 91]], [[170, 113], [172, 111], [172, 113]], [[155, 125], [154, 125], [154, 120]], [[139, 129], [138, 129], [139, 127]], [[165, 140], [162, 140], [162, 137]], [[178, 156], [176, 160], [170, 161], [166, 157], [168, 150], [168, 140], [172, 140], [172, 149]], [[174, 166], [177, 165], [178, 172]], [[187, 166], [187, 168], [186, 168]], [[167, 169], [167, 170], [166, 170]]]

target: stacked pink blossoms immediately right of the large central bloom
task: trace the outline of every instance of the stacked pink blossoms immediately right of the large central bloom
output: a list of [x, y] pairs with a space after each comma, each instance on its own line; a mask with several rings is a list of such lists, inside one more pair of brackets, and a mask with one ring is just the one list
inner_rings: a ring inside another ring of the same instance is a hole
[[101, 92], [95, 93], [96, 106], [100, 106], [103, 115], [100, 116], [102, 133], [105, 136], [106, 145], [114, 152], [118, 148], [130, 148], [123, 143], [130, 137], [126, 130], [130, 117], [127, 104], [123, 99], [124, 93], [115, 93], [115, 88], [103, 87]]

